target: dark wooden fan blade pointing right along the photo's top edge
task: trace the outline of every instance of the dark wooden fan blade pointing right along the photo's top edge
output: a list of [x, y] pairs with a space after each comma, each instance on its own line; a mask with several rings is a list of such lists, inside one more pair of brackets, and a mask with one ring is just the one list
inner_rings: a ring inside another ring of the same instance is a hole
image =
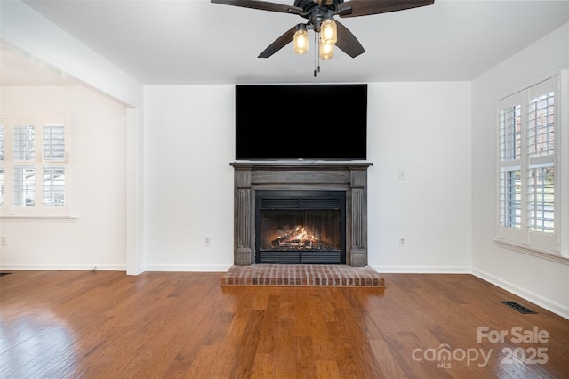
[[435, 0], [349, 0], [338, 4], [340, 17], [368, 16], [370, 14], [404, 11], [405, 9], [435, 4]]

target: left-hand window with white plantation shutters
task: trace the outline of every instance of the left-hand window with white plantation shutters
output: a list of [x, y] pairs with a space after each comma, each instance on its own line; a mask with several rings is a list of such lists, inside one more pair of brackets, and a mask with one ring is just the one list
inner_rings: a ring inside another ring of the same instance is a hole
[[2, 117], [0, 211], [10, 216], [68, 216], [68, 117]]

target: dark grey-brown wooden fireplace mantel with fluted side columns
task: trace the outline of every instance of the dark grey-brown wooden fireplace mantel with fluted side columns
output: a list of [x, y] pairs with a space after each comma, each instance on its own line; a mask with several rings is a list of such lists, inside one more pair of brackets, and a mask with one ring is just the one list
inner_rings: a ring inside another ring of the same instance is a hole
[[233, 162], [235, 169], [234, 261], [255, 262], [254, 209], [257, 190], [346, 192], [346, 262], [367, 265], [368, 162]]

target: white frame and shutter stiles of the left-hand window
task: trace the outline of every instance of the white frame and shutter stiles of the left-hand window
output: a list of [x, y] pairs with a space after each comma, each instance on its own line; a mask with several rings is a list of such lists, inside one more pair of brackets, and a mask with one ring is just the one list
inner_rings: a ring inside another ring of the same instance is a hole
[[[3, 203], [0, 205], [0, 222], [18, 221], [73, 221], [73, 149], [72, 117], [68, 113], [6, 115], [1, 116], [0, 125], [4, 130], [4, 160], [0, 167], [4, 169]], [[34, 160], [17, 161], [13, 156], [13, 129], [15, 125], [34, 125], [36, 134], [36, 152]], [[44, 159], [44, 125], [64, 126], [64, 158], [61, 160]], [[13, 200], [14, 167], [33, 166], [35, 170], [35, 201], [33, 206], [15, 206]], [[44, 206], [44, 166], [63, 166], [65, 170], [64, 202], [62, 206]]]

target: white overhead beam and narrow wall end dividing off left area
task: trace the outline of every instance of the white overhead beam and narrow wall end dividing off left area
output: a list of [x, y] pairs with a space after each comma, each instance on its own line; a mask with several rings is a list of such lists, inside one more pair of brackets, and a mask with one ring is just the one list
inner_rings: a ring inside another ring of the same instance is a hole
[[130, 107], [126, 121], [127, 144], [122, 147], [128, 166], [126, 270], [129, 274], [140, 273], [144, 265], [143, 86], [20, 0], [0, 2], [0, 7], [0, 42], [4, 48], [43, 61], [54, 72], [76, 77], [86, 87]]

